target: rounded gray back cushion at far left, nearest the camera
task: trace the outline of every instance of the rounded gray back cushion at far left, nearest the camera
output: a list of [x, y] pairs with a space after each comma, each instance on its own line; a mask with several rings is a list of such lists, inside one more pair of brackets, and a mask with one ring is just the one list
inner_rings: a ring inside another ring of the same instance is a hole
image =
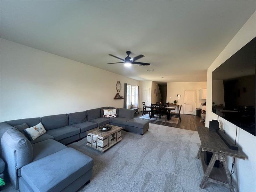
[[2, 155], [4, 154], [5, 158], [13, 155], [13, 151], [9, 150], [10, 148], [15, 150], [15, 167], [17, 169], [22, 166], [29, 164], [33, 158], [33, 148], [29, 140], [16, 128], [8, 129], [2, 140]]

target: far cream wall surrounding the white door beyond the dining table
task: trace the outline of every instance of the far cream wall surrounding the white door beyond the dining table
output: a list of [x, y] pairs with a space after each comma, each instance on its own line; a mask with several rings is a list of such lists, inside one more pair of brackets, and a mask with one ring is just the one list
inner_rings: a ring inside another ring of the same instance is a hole
[[[174, 100], [178, 100], [178, 105], [182, 105], [180, 113], [183, 114], [184, 109], [184, 91], [185, 90], [196, 90], [196, 108], [201, 107], [201, 103], [205, 100], [200, 100], [200, 89], [206, 88], [206, 82], [168, 82], [167, 83], [167, 94], [166, 101], [173, 103]], [[181, 95], [178, 99], [177, 94]], [[171, 98], [170, 98], [171, 97]], [[176, 109], [177, 112], [177, 109]]]

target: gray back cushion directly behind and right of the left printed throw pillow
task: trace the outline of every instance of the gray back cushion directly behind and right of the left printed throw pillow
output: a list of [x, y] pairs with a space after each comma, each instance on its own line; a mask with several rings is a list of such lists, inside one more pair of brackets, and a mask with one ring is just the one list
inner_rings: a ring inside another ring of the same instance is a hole
[[41, 118], [46, 131], [68, 125], [68, 114], [44, 116]]

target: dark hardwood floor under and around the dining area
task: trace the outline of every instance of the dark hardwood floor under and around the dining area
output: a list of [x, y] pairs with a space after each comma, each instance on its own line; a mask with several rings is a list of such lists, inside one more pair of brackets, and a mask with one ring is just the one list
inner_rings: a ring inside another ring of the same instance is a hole
[[[141, 115], [142, 115], [142, 112], [140, 112], [140, 114], [136, 113], [136, 115], [134, 115], [134, 118], [140, 118]], [[197, 126], [201, 126], [201, 127], [205, 126], [204, 122], [200, 122], [200, 117], [198, 117], [198, 116], [180, 114], [180, 117], [181, 117], [181, 122], [179, 120], [178, 124], [168, 123], [168, 122], [164, 122], [164, 121], [156, 121], [156, 120], [149, 120], [150, 121], [149, 123], [164, 125], [164, 126], [169, 126], [169, 127], [176, 127], [176, 128], [180, 128], [180, 129], [187, 129], [187, 130], [192, 130], [192, 131], [197, 131], [197, 129], [196, 129]]]

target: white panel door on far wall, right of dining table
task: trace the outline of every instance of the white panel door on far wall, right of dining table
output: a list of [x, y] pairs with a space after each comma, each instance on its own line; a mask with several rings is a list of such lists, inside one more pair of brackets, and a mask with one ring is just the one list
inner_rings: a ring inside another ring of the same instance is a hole
[[184, 114], [196, 114], [196, 90], [184, 91]]

